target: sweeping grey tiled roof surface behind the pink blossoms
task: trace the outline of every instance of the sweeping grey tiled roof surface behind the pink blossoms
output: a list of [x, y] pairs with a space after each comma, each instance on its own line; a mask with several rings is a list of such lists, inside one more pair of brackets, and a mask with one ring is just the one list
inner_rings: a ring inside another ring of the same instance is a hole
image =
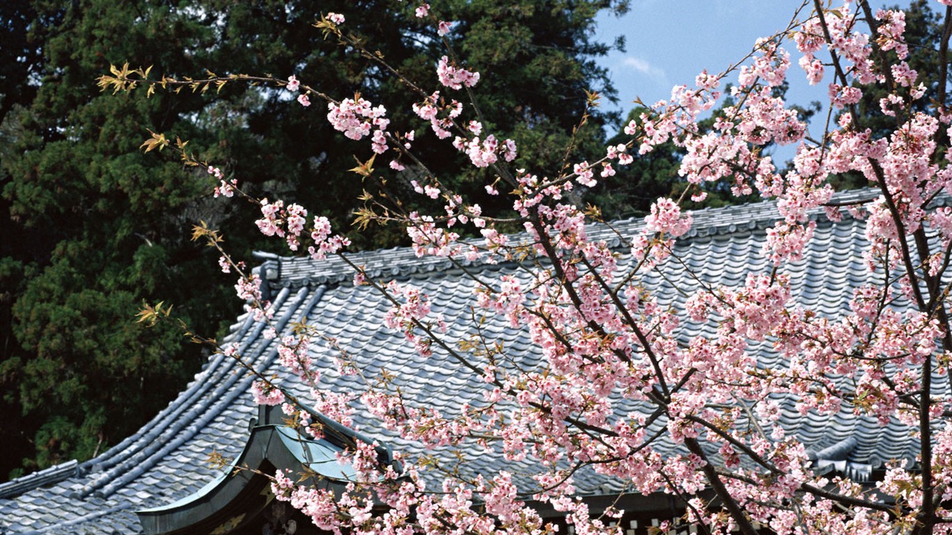
[[[872, 191], [848, 192], [840, 201], [874, 198]], [[679, 240], [676, 254], [700, 277], [712, 283], [741, 284], [749, 272], [765, 272], [772, 265], [764, 258], [764, 228], [776, 218], [770, 203], [694, 212], [694, 228]], [[855, 287], [866, 282], [861, 251], [866, 247], [863, 222], [847, 217], [828, 221], [822, 212], [815, 239], [803, 260], [794, 265], [791, 287], [794, 300], [828, 316], [847, 309]], [[629, 220], [590, 228], [589, 235], [621, 246], [622, 236], [631, 236], [641, 223]], [[623, 262], [625, 248], [619, 249]], [[343, 262], [328, 259], [315, 263], [304, 259], [267, 257], [261, 267], [275, 305], [278, 330], [307, 321], [323, 335], [346, 347], [365, 375], [383, 369], [402, 377], [405, 394], [421, 405], [436, 406], [452, 413], [463, 401], [480, 403], [479, 378], [458, 372], [458, 365], [439, 350], [429, 358], [408, 347], [399, 332], [383, 327], [388, 303], [370, 287], [354, 287], [352, 273]], [[355, 264], [366, 266], [384, 279], [399, 278], [429, 294], [433, 312], [446, 319], [450, 344], [470, 336], [472, 283], [463, 271], [446, 259], [419, 259], [408, 248], [393, 248], [351, 255]], [[696, 287], [684, 267], [658, 269], [645, 279], [645, 286], [671, 305], [684, 304], [685, 295]], [[519, 276], [512, 265], [470, 265], [480, 276], [495, 279], [504, 274]], [[658, 275], [664, 270], [666, 278]], [[684, 335], [694, 335], [711, 326], [686, 326]], [[264, 326], [248, 314], [231, 327], [228, 342], [259, 370], [276, 370], [276, 342], [263, 336]], [[509, 354], [524, 355], [526, 362], [538, 359], [538, 351], [525, 336], [511, 327], [489, 323], [486, 331], [506, 340]], [[755, 347], [761, 366], [782, 367], [768, 344]], [[329, 387], [359, 387], [353, 376], [341, 377], [330, 366], [331, 352], [320, 344], [313, 349], [316, 365], [327, 367], [323, 381]], [[206, 463], [217, 451], [234, 457], [248, 439], [248, 423], [256, 407], [248, 395], [251, 378], [231, 359], [212, 357], [188, 387], [169, 406], [136, 434], [104, 454], [78, 466], [53, 467], [0, 485], [0, 534], [21, 533], [137, 533], [141, 527], [134, 511], [166, 505], [195, 492], [220, 474]], [[937, 384], [940, 384], [937, 382]], [[945, 382], [941, 383], [945, 385]], [[782, 421], [788, 431], [801, 437], [818, 457], [821, 469], [832, 467], [855, 476], [868, 474], [889, 459], [912, 459], [917, 446], [899, 424], [880, 426], [875, 419], [841, 413], [801, 415], [792, 399], [783, 399]], [[637, 408], [637, 407], [636, 407]], [[370, 423], [358, 421], [359, 430], [382, 437], [398, 450], [417, 451], [417, 446], [382, 435]], [[663, 423], [657, 424], [659, 426]], [[668, 444], [667, 447], [674, 448]], [[475, 457], [472, 469], [491, 471], [497, 460], [491, 455]], [[617, 482], [577, 478], [581, 492], [603, 494], [617, 491]]]

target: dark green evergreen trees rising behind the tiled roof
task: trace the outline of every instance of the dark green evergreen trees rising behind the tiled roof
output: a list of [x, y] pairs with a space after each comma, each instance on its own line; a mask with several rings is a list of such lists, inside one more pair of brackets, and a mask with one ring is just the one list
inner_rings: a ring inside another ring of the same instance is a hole
[[[929, 36], [941, 28], [924, 3], [913, 8], [910, 64], [934, 89], [938, 73], [928, 66], [937, 51], [915, 43], [939, 42]], [[160, 91], [147, 100], [102, 94], [95, 79], [127, 61], [178, 78], [209, 66], [220, 74], [294, 73], [331, 95], [360, 92], [398, 117], [410, 109], [407, 91], [311, 24], [318, 10], [372, 11], [348, 20], [390, 65], [430, 80], [439, 49], [412, 9], [384, 0], [0, 3], [0, 481], [116, 444], [200, 369], [206, 355], [180, 332], [134, 323], [143, 300], [173, 305], [196, 332], [221, 333], [235, 316], [233, 281], [213, 250], [189, 241], [193, 225], [224, 229], [239, 258], [273, 247], [254, 227], [254, 210], [211, 198], [204, 170], [169, 153], [143, 154], [149, 129], [188, 139], [198, 158], [253, 196], [281, 196], [349, 228], [353, 248], [406, 239], [397, 227], [351, 226], [366, 187], [347, 173], [358, 145], [335, 135], [321, 110], [288, 106], [288, 93], [229, 84], [218, 94]], [[608, 46], [592, 38], [595, 16], [624, 11], [627, 2], [451, 0], [439, 9], [458, 21], [449, 38], [466, 64], [492, 73], [476, 94], [487, 128], [531, 148], [520, 151], [518, 167], [557, 171], [600, 151], [619, 129], [622, 117], [595, 109], [576, 130], [586, 90], [615, 94], [597, 63]], [[417, 30], [398, 30], [406, 28]], [[566, 159], [573, 132], [577, 153]], [[415, 149], [466, 191], [470, 177], [452, 174], [466, 168], [460, 155], [427, 147], [431, 141]], [[605, 218], [639, 215], [678, 191], [677, 165], [677, 148], [657, 150], [577, 202], [600, 206]], [[410, 178], [387, 188], [411, 188]], [[484, 206], [505, 201], [469, 190]]]

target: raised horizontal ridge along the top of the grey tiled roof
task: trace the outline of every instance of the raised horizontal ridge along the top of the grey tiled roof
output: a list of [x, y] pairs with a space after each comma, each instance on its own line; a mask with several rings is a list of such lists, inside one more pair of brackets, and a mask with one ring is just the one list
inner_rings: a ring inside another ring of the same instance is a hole
[[[852, 204], [863, 200], [873, 200], [879, 197], [879, 189], [863, 188], [838, 192], [833, 201], [842, 204]], [[942, 202], [942, 200], [940, 200]], [[842, 209], [842, 208], [841, 208]], [[780, 220], [777, 213], [776, 201], [761, 201], [746, 205], [736, 205], [722, 208], [702, 208], [689, 212], [694, 219], [691, 229], [681, 239], [690, 240], [718, 234], [734, 232], [749, 232], [763, 229]], [[826, 220], [823, 208], [810, 210], [812, 220]], [[643, 217], [632, 217], [608, 224], [592, 223], [585, 227], [589, 238], [605, 240], [612, 248], [623, 248], [625, 244], [619, 237], [633, 235], [645, 227]], [[525, 232], [509, 235], [510, 242], [527, 242]], [[477, 239], [478, 240], [478, 239]], [[347, 264], [333, 257], [323, 261], [313, 261], [307, 257], [282, 257], [273, 253], [255, 252], [256, 258], [265, 262], [260, 267], [264, 275], [268, 273], [268, 284], [275, 287], [300, 287], [313, 284], [335, 284], [349, 280], [353, 271]], [[446, 257], [417, 257], [413, 248], [395, 247], [369, 251], [358, 251], [347, 255], [348, 259], [357, 266], [364, 266], [375, 276], [407, 277], [427, 272], [443, 272], [462, 267], [480, 266], [484, 269], [498, 269], [493, 264], [482, 261], [467, 261], [464, 258]]]

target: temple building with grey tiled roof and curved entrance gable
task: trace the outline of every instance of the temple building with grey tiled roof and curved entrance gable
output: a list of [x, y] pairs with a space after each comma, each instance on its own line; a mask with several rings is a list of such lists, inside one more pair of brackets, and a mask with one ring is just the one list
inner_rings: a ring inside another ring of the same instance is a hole
[[[874, 191], [859, 190], [846, 192], [839, 200], [876, 196]], [[697, 280], [742, 285], [748, 273], [769, 272], [773, 267], [762, 253], [765, 229], [778, 217], [773, 204], [707, 208], [693, 212], [693, 217], [692, 229], [678, 240], [675, 249], [684, 264], [663, 266], [645, 278], [645, 287], [666, 296], [665, 304], [683, 307], [684, 296], [697, 287]], [[862, 253], [868, 247], [864, 222], [845, 212], [839, 222], [827, 219], [823, 211], [812, 213], [811, 218], [817, 222], [815, 237], [803, 259], [790, 268], [793, 301], [836, 317], [848, 311], [856, 287], [872, 282], [863, 266]], [[613, 229], [593, 225], [589, 236], [616, 247], [624, 264], [630, 262], [630, 251], [619, 235], [633, 236], [642, 225], [640, 220], [616, 222]], [[396, 279], [428, 294], [433, 312], [442, 314], [448, 324], [446, 336], [451, 344], [473, 334], [473, 283], [464, 269], [446, 258], [417, 258], [411, 248], [355, 253], [350, 258], [375, 279]], [[355, 287], [352, 270], [340, 259], [314, 262], [262, 255], [260, 261], [258, 272], [266, 299], [275, 307], [278, 338], [268, 338], [266, 326], [245, 313], [237, 318], [226, 339], [228, 344], [238, 344], [256, 370], [280, 372], [278, 341], [296, 324], [307, 323], [322, 336], [310, 351], [315, 366], [326, 369], [322, 384], [328, 388], [360, 388], [356, 377], [341, 375], [331, 366], [335, 350], [327, 340], [333, 340], [347, 349], [365, 376], [372, 378], [386, 370], [398, 377], [407, 397], [420, 406], [452, 413], [452, 407], [460, 403], [483, 399], [487, 386], [481, 377], [461, 369], [438, 347], [432, 356], [420, 356], [401, 332], [384, 327], [390, 303], [372, 287]], [[515, 264], [463, 264], [487, 281], [506, 274], [518, 276], [520, 271]], [[526, 366], [541, 362], [540, 351], [525, 331], [504, 324], [490, 322], [484, 328], [491, 336], [506, 340], [506, 352], [520, 355]], [[710, 328], [685, 327], [685, 331], [698, 334]], [[758, 352], [759, 366], [783, 367], [769, 342], [750, 350]], [[254, 404], [249, 393], [252, 379], [233, 359], [216, 354], [168, 407], [98, 457], [51, 466], [0, 485], [0, 534], [319, 533], [307, 517], [274, 499], [266, 478], [245, 469], [209, 464], [209, 455], [220, 455], [230, 466], [271, 474], [277, 468], [295, 472], [308, 468], [316, 474], [314, 485], [333, 487], [344, 485], [352, 474], [350, 466], [341, 465], [336, 458], [349, 442], [376, 440], [382, 445], [382, 459], [393, 451], [410, 457], [422, 451], [419, 445], [377, 428], [369, 418], [362, 419], [359, 410], [350, 427], [328, 419], [323, 439], [303, 437], [286, 425], [280, 410]], [[936, 384], [948, 388], [944, 380]], [[307, 399], [306, 389], [302, 386], [299, 390]], [[937, 392], [944, 394], [947, 392]], [[882, 475], [884, 463], [890, 460], [905, 461], [910, 467], [914, 464], [919, 444], [897, 421], [882, 426], [873, 417], [853, 414], [847, 406], [832, 416], [801, 414], [796, 400], [779, 401], [783, 427], [810, 449], [814, 469], [819, 472], [870, 482]], [[678, 448], [666, 438], [657, 447]], [[467, 458], [465, 468], [493, 473], [502, 463], [501, 456], [473, 455]], [[625, 509], [620, 522], [630, 535], [646, 535], [650, 526], [683, 511], [672, 496], [629, 494], [623, 482], [594, 472], [580, 473], [575, 483], [593, 512], [618, 499]], [[540, 512], [558, 518], [545, 507], [541, 506]], [[562, 532], [566, 531], [568, 526]], [[693, 532], [687, 525], [675, 531]]]

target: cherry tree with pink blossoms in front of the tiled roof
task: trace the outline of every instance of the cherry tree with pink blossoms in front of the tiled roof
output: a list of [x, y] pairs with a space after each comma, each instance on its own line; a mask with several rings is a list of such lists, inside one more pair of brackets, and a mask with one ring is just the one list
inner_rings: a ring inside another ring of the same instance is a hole
[[[326, 107], [335, 129], [367, 144], [353, 169], [361, 180], [404, 180], [437, 207], [405, 212], [398, 199], [367, 195], [357, 224], [399, 224], [418, 256], [446, 257], [461, 268], [464, 259], [526, 267], [522, 276], [499, 281], [483, 282], [474, 274], [472, 306], [492, 321], [523, 328], [539, 348], [541, 364], [515, 366], [516, 357], [497, 347], [484, 349], [494, 363], [484, 366], [476, 364], [484, 362], [476, 358], [477, 349], [446, 342], [429, 296], [399, 282], [373, 280], [350, 261], [347, 239], [326, 219], [281, 200], [252, 199], [261, 210], [257, 224], [263, 233], [318, 261], [342, 258], [354, 269], [355, 285], [370, 285], [392, 303], [386, 327], [402, 331], [424, 356], [452, 355], [460, 373], [475, 374], [487, 386], [486, 404], [460, 407], [452, 417], [414, 406], [382, 384], [344, 396], [323, 392], [322, 370], [308, 352], [319, 334], [302, 328], [280, 341], [289, 378], [260, 376], [253, 391], [259, 403], [283, 405], [315, 436], [321, 434], [320, 426], [311, 425], [315, 407], [344, 423], [362, 410], [408, 441], [456, 447], [464, 456], [475, 441], [506, 460], [543, 467], [531, 488], [505, 470], [471, 478], [433, 476], [413, 458], [398, 455], [400, 463], [382, 464], [374, 445], [357, 441], [346, 459], [357, 477], [343, 495], [298, 485], [292, 474], [270, 474], [277, 498], [315, 525], [336, 533], [552, 531], [527, 505], [531, 497], [562, 511], [578, 532], [617, 532], [608, 520], [620, 511], [609, 507], [607, 518], [593, 519], [585, 501], [573, 498], [572, 476], [585, 466], [624, 481], [633, 492], [684, 497], [686, 520], [706, 533], [736, 529], [751, 535], [757, 525], [784, 534], [948, 533], [952, 400], [934, 382], [947, 376], [952, 355], [945, 307], [952, 289], [946, 274], [952, 209], [933, 207], [937, 198], [952, 194], [947, 158], [952, 111], [945, 76], [952, 1], [940, 3], [942, 42], [926, 44], [940, 54], [937, 87], [923, 85], [905, 61], [909, 43], [903, 39], [902, 10], [873, 10], [864, 0], [839, 7], [806, 1], [787, 28], [758, 41], [736, 65], [705, 71], [693, 85], [672, 89], [670, 99], [625, 129], [625, 143], [587, 161], [565, 161], [559, 169], [514, 168], [528, 148], [496, 138], [472, 104], [473, 91], [492, 73], [467, 69], [448, 41], [446, 55], [434, 58], [435, 81], [428, 84], [403, 79], [386, 58], [377, 57], [381, 69], [417, 95], [412, 111], [418, 122], [409, 125], [392, 124], [387, 103], [327, 95], [319, 81], [298, 80], [293, 73], [282, 79], [175, 80], [150, 79], [148, 69], [124, 67], [100, 83], [104, 89], [138, 85], [152, 91], [246, 81], [288, 91], [289, 106]], [[416, 13], [440, 37], [453, 31], [452, 21], [426, 4]], [[348, 50], [374, 57], [372, 44], [348, 34], [343, 16], [323, 14], [315, 26]], [[791, 69], [793, 62], [799, 70]], [[825, 89], [830, 112], [822, 132], [810, 135], [796, 111], [776, 96], [775, 89], [792, 76]], [[871, 88], [884, 89], [886, 96], [879, 109], [861, 111], [858, 103]], [[720, 109], [713, 129], [703, 131], [699, 121], [725, 93], [736, 104]], [[926, 95], [932, 100], [923, 107]], [[596, 103], [597, 95], [590, 95], [589, 104]], [[579, 128], [585, 116], [582, 110]], [[890, 118], [891, 128], [874, 135], [866, 125], [872, 118], [882, 124], [883, 117]], [[414, 155], [413, 143], [421, 135], [446, 140], [447, 150], [463, 152], [474, 168], [485, 169], [486, 194], [508, 196], [511, 211], [486, 213], [447, 188]], [[585, 190], [669, 142], [684, 149], [679, 173], [687, 188], [681, 198], [658, 199], [640, 233], [620, 236], [634, 259], [622, 264], [605, 241], [588, 237], [586, 224], [598, 212], [583, 208]], [[796, 147], [789, 168], [779, 168], [761, 150], [771, 143]], [[226, 177], [193, 156], [185, 142], [155, 133], [144, 144], [147, 150], [167, 146], [178, 149], [188, 165], [219, 178], [216, 196], [242, 195], [240, 173]], [[850, 206], [832, 202], [832, 184], [845, 173], [863, 176], [875, 194]], [[715, 184], [738, 196], [756, 192], [776, 201], [777, 222], [767, 230], [763, 251], [772, 269], [751, 274], [736, 287], [702, 281], [703, 289], [684, 307], [660, 306], [659, 296], [640, 282], [677, 263], [674, 244], [692, 226], [691, 213], [681, 206], [687, 198], [703, 202], [705, 190]], [[808, 212], [817, 208], [825, 208], [832, 220], [865, 221], [870, 247], [863, 261], [869, 280], [880, 281], [860, 287], [839, 317], [791, 301], [789, 272], [813, 237], [816, 223]], [[524, 233], [513, 235], [513, 228]], [[200, 227], [195, 233], [221, 248], [215, 230]], [[239, 276], [239, 297], [253, 304], [259, 320], [268, 321], [272, 311], [262, 302], [260, 279], [222, 253], [223, 269]], [[149, 321], [166, 316], [161, 306], [143, 311]], [[716, 328], [685, 337], [685, 325]], [[752, 346], [764, 341], [783, 355], [785, 367], [758, 367]], [[218, 350], [241, 359], [235, 347]], [[348, 366], [344, 349], [339, 364]], [[313, 386], [314, 399], [292, 397], [283, 386], [290, 380]], [[829, 415], [847, 406], [883, 425], [901, 422], [921, 445], [916, 467], [891, 463], [875, 485], [818, 474], [803, 444], [780, 425], [775, 400], [791, 396], [804, 413]], [[650, 406], [651, 416], [625, 413], [620, 408], [625, 404]], [[649, 431], [657, 422], [664, 422], [662, 432]], [[663, 439], [681, 453], [661, 455], [657, 446]], [[712, 456], [712, 450], [718, 454]]]

